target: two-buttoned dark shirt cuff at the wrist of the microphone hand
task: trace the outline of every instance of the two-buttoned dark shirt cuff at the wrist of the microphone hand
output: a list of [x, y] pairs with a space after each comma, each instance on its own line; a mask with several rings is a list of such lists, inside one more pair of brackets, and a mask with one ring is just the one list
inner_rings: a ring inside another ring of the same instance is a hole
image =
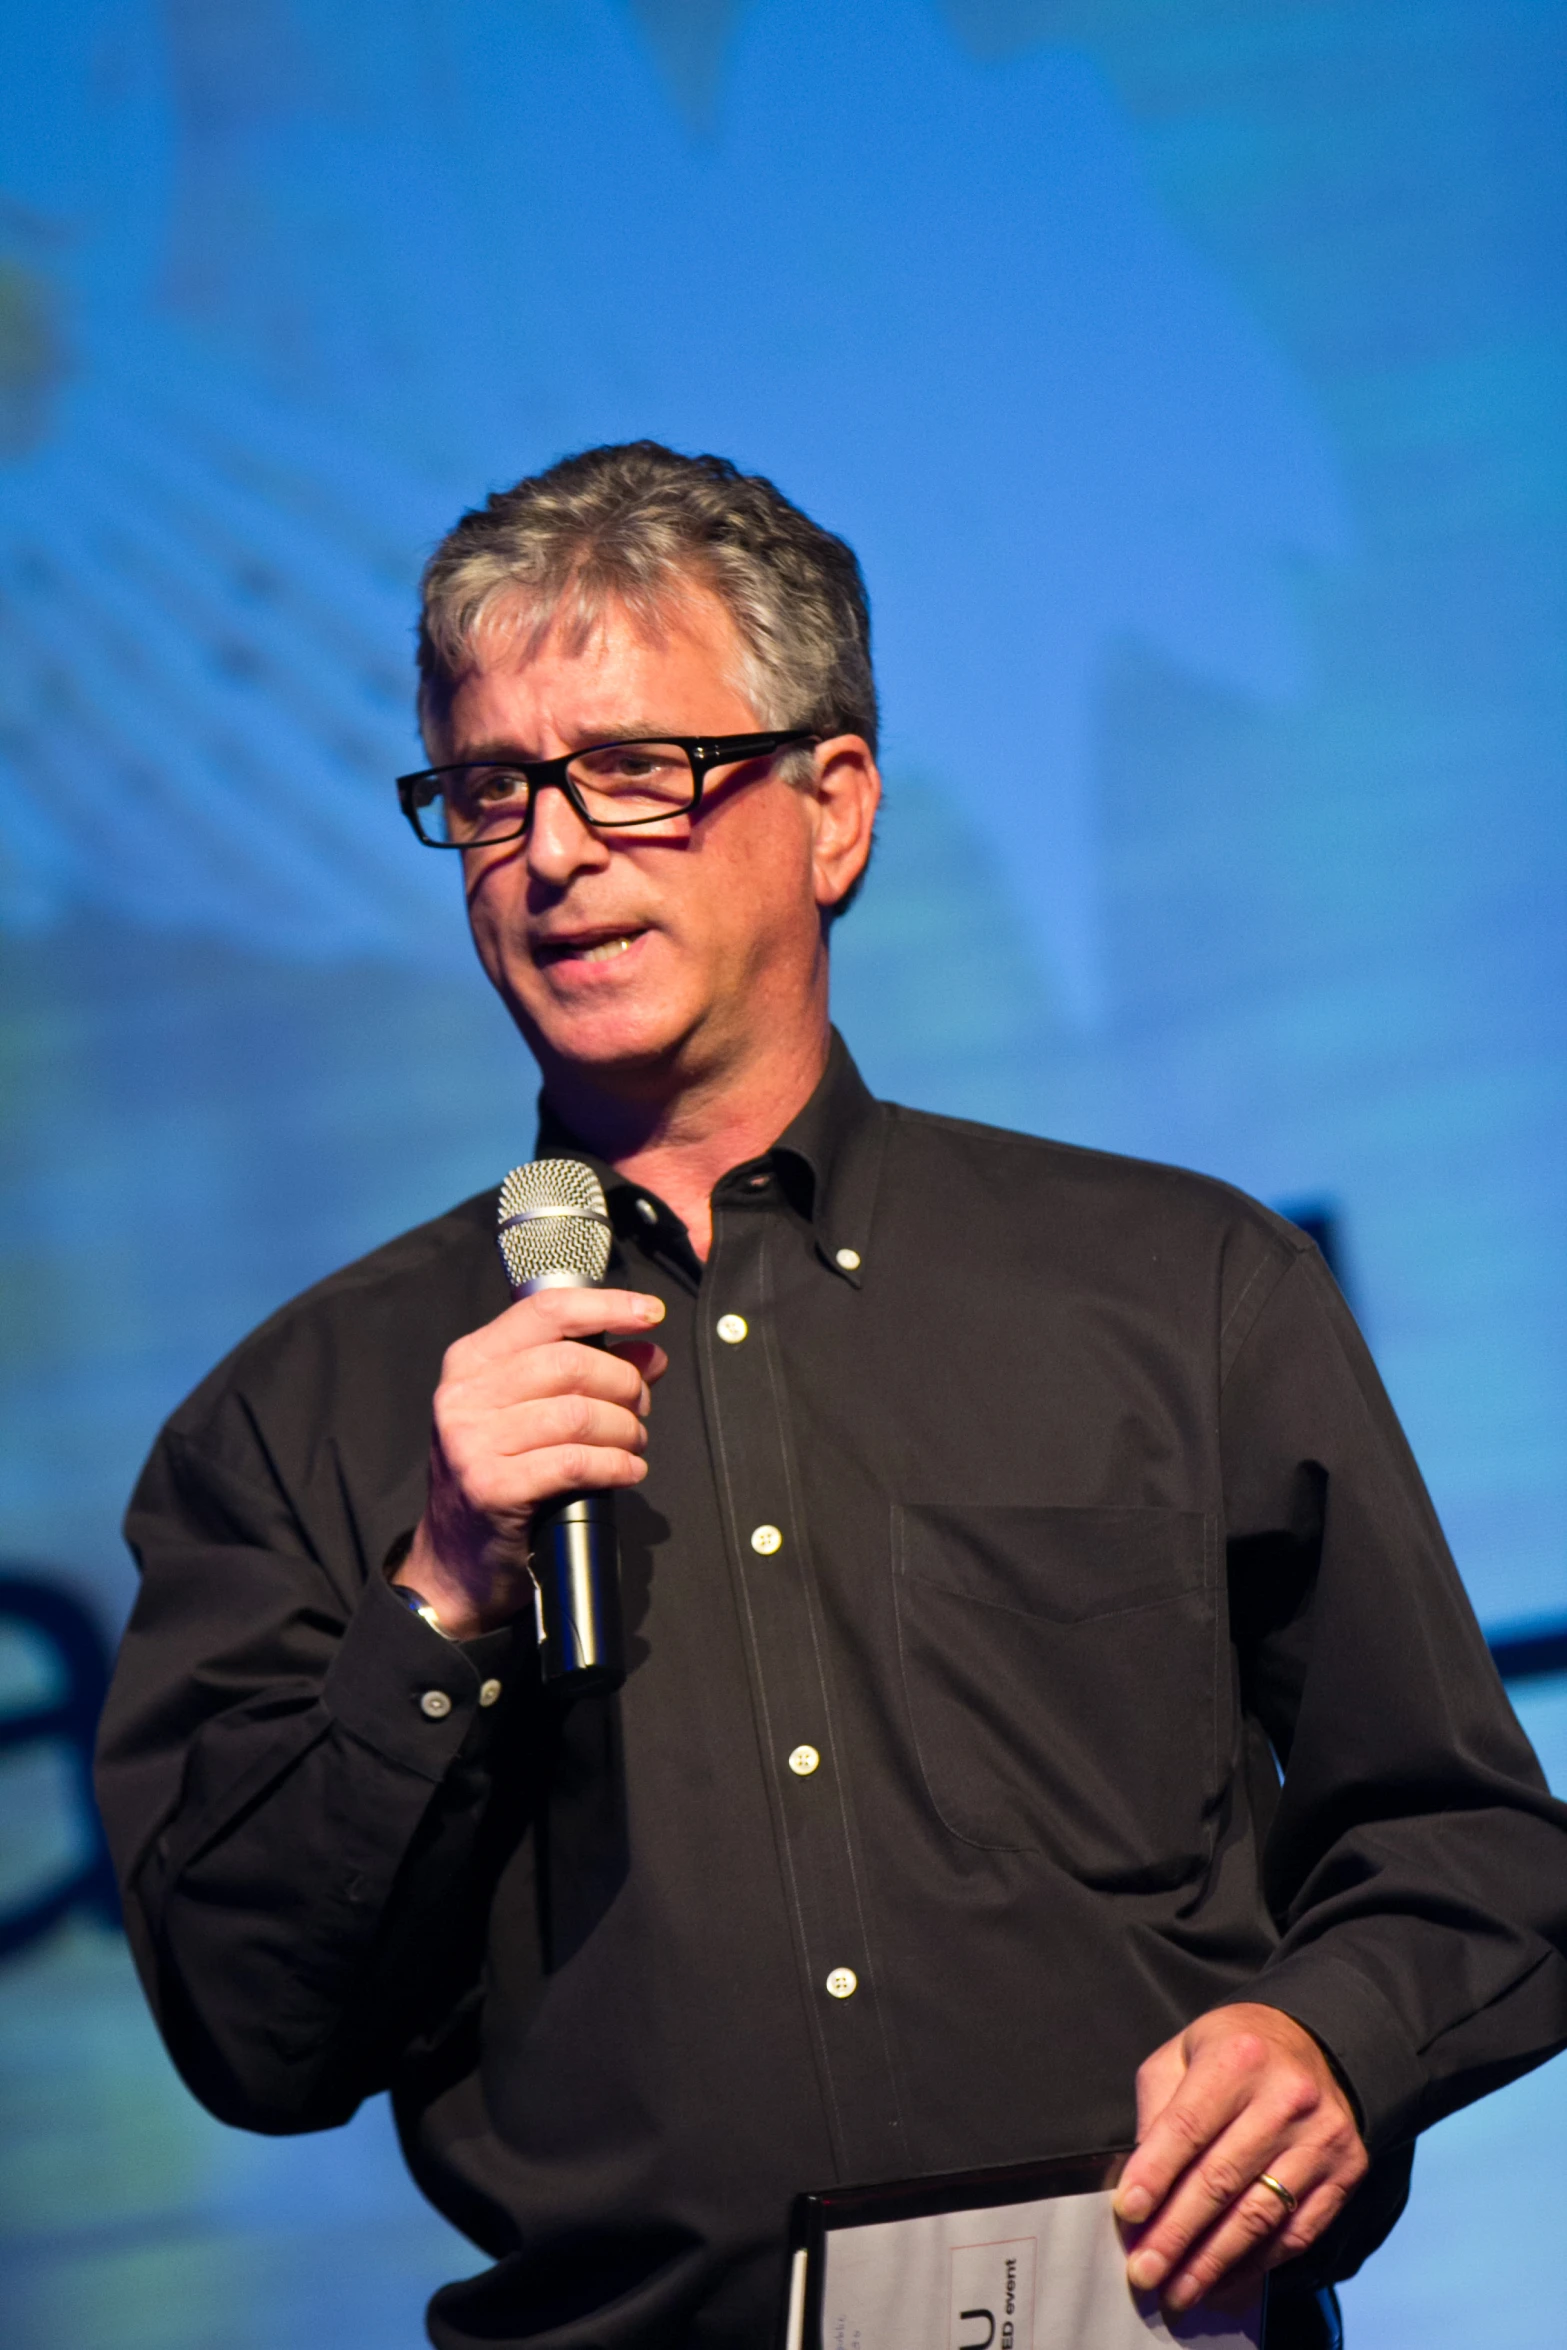
[[371, 1574], [327, 1673], [331, 1718], [362, 1746], [421, 1779], [458, 1753], [482, 1758], [524, 1685], [538, 1680], [533, 1624], [446, 1640]]

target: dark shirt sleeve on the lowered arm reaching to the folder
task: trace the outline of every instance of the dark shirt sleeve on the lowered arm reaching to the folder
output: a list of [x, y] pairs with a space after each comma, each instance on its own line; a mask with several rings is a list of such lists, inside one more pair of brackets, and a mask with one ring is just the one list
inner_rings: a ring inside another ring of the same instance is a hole
[[1567, 1807], [1316, 1250], [1233, 1358], [1222, 1441], [1243, 1699], [1283, 1767], [1250, 1995], [1323, 2042], [1379, 2150], [1567, 2042]]

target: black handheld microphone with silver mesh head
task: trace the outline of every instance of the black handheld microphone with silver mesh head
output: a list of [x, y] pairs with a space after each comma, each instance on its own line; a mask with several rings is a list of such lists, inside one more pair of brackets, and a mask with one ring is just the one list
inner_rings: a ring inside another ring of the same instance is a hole
[[[500, 1255], [519, 1297], [597, 1290], [608, 1267], [604, 1187], [580, 1159], [533, 1159], [500, 1184]], [[543, 1502], [531, 1551], [538, 1593], [538, 1664], [545, 1683], [576, 1697], [625, 1680], [620, 1542], [613, 1492]]]

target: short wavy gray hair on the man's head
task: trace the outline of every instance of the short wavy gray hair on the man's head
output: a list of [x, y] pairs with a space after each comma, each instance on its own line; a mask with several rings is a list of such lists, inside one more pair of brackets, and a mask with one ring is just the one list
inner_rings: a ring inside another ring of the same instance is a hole
[[439, 728], [482, 634], [585, 642], [608, 602], [658, 630], [693, 585], [726, 606], [742, 686], [768, 728], [865, 736], [876, 750], [872, 620], [860, 564], [761, 475], [660, 442], [583, 449], [496, 491], [425, 564], [418, 717]]

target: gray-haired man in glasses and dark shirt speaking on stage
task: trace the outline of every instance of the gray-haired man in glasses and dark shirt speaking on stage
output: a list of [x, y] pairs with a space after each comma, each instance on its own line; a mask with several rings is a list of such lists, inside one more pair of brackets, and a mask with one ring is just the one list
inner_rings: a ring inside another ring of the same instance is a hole
[[[1562, 1810], [1332, 1281], [865, 1093], [869, 623], [771, 484], [522, 482], [421, 663], [404, 808], [618, 1253], [507, 1304], [486, 1194], [164, 1431], [101, 1788], [186, 2080], [392, 2087], [496, 2261], [451, 2350], [749, 2350], [794, 2193], [1132, 2138], [1132, 2280], [1304, 2324], [1414, 2131], [1567, 2040]], [[599, 1488], [632, 1671], [559, 1706], [529, 1528]]]

